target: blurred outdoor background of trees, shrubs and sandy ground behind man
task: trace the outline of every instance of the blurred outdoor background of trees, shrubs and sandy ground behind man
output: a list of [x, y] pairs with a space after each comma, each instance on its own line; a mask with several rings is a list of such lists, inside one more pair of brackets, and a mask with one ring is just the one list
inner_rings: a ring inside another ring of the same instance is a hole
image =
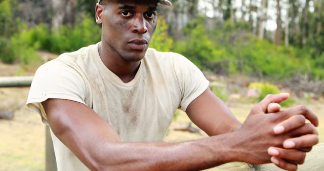
[[[324, 142], [323, 0], [177, 0], [158, 7], [150, 47], [191, 60], [240, 120], [266, 94], [306, 104]], [[96, 1], [0, 0], [0, 76], [33, 75], [59, 54], [96, 44]], [[0, 88], [0, 170], [45, 170], [45, 125], [25, 109], [29, 88]], [[177, 111], [165, 141], [206, 137]]]

